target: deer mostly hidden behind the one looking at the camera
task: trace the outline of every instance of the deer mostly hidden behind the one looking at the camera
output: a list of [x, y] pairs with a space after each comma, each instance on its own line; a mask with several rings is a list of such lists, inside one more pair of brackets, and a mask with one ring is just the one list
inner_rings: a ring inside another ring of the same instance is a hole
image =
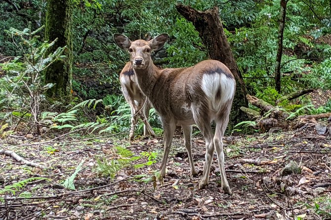
[[147, 97], [140, 91], [134, 75], [131, 62], [127, 62], [120, 73], [120, 83], [126, 102], [131, 110], [131, 127], [129, 140], [134, 139], [134, 130], [138, 117], [144, 122], [144, 136], [156, 137], [151, 125], [148, 123], [149, 110], [151, 105]]

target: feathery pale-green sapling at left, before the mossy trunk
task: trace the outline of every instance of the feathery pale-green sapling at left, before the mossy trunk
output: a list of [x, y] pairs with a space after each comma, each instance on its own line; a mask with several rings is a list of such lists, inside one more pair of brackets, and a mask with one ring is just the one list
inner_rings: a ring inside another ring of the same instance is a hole
[[37, 35], [41, 30], [31, 32], [29, 29], [19, 31], [10, 28], [6, 31], [12, 37], [19, 37], [17, 49], [24, 53], [21, 57], [0, 64], [6, 73], [0, 78], [0, 119], [10, 125], [14, 122], [11, 117], [7, 117], [8, 114], [16, 117], [30, 115], [26, 120], [39, 123], [39, 116], [47, 103], [44, 93], [53, 86], [51, 83], [43, 83], [42, 72], [62, 58], [65, 48], [57, 48], [54, 53], [46, 56], [47, 49], [55, 41], [41, 43]]

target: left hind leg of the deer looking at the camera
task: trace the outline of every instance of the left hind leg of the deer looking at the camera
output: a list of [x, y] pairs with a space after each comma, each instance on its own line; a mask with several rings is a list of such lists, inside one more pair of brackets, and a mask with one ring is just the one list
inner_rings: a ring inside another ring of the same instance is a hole
[[199, 183], [199, 189], [202, 189], [208, 184], [210, 165], [214, 154], [214, 143], [212, 141], [213, 132], [210, 126], [209, 115], [205, 111], [193, 110], [193, 117], [206, 141], [206, 162], [204, 165], [203, 177]]

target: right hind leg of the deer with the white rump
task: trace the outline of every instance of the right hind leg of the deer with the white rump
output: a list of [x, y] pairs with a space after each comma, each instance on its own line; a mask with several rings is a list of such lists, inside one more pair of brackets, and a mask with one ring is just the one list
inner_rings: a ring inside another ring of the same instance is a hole
[[215, 120], [216, 128], [215, 128], [215, 135], [213, 138], [214, 146], [216, 148], [219, 169], [221, 173], [221, 180], [222, 180], [222, 189], [225, 193], [232, 195], [228, 180], [226, 179], [226, 173], [224, 168], [224, 151], [223, 151], [223, 135], [228, 125], [229, 116], [221, 115], [218, 120]]

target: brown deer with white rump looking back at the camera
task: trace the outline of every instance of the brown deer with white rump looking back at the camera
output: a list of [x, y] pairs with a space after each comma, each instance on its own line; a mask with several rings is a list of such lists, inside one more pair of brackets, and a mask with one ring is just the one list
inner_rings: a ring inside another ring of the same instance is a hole
[[[156, 67], [151, 53], [163, 47], [168, 38], [167, 34], [161, 34], [149, 41], [131, 41], [121, 34], [115, 34], [113, 37], [120, 48], [128, 51], [137, 85], [161, 118], [164, 154], [160, 176], [165, 177], [166, 162], [176, 125], [183, 130], [191, 176], [197, 176], [191, 153], [192, 125], [195, 124], [206, 141], [205, 164], [198, 188], [203, 189], [208, 184], [210, 165], [216, 149], [221, 187], [225, 193], [231, 195], [224, 168], [222, 140], [236, 90], [236, 80], [231, 71], [217, 60], [204, 60], [186, 68]], [[215, 132], [211, 122], [215, 123]]]

